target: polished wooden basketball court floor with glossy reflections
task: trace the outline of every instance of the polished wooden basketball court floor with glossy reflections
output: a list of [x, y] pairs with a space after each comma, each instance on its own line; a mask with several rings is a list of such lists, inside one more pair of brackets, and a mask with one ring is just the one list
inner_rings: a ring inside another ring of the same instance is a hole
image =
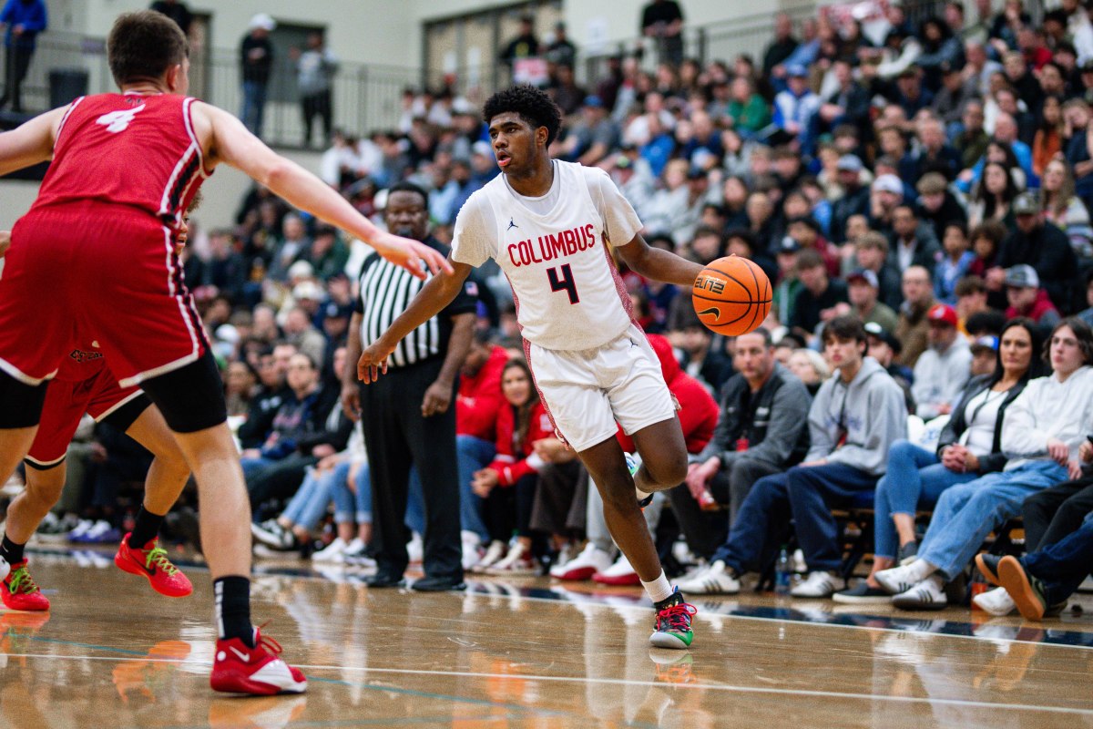
[[545, 578], [369, 590], [306, 563], [255, 578], [310, 679], [208, 689], [211, 587], [161, 598], [108, 553], [32, 553], [48, 614], [0, 612], [0, 727], [1093, 727], [1093, 599], [1043, 625], [828, 601], [694, 600], [690, 651], [650, 649], [636, 589]]

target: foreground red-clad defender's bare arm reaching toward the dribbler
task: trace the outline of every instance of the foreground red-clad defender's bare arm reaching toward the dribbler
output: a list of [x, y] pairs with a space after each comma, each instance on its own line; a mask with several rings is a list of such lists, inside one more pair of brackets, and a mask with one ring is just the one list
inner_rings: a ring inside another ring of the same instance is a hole
[[208, 144], [208, 164], [223, 162], [246, 173], [296, 208], [369, 244], [380, 256], [419, 279], [425, 278], [420, 260], [424, 260], [433, 273], [451, 272], [444, 257], [434, 249], [380, 231], [330, 186], [266, 146], [227, 111], [201, 103], [195, 104], [193, 110], [199, 138]]

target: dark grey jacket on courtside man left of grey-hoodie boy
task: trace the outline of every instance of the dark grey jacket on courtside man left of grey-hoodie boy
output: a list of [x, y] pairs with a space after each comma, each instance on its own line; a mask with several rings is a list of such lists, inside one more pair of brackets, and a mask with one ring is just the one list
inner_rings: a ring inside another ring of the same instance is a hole
[[[804, 385], [780, 364], [754, 393], [743, 375], [733, 375], [721, 388], [720, 418], [700, 459], [716, 456], [722, 466], [738, 457], [796, 466], [809, 449], [811, 402]], [[748, 440], [748, 449], [737, 452], [741, 439]]]

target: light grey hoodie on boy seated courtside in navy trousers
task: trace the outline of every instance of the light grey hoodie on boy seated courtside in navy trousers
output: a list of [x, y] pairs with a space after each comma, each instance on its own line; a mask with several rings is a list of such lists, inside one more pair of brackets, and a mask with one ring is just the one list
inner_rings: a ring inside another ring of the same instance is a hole
[[[844, 434], [846, 442], [839, 446]], [[809, 435], [812, 446], [806, 462], [827, 459], [883, 475], [889, 448], [907, 437], [903, 390], [872, 357], [862, 361], [849, 385], [836, 371], [812, 401]]]

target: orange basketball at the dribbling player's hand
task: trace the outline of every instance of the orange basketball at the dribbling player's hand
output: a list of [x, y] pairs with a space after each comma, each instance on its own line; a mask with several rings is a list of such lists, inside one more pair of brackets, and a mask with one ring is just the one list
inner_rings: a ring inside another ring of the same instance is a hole
[[691, 286], [691, 303], [706, 328], [726, 337], [754, 331], [771, 311], [774, 290], [755, 263], [739, 256], [712, 261]]

